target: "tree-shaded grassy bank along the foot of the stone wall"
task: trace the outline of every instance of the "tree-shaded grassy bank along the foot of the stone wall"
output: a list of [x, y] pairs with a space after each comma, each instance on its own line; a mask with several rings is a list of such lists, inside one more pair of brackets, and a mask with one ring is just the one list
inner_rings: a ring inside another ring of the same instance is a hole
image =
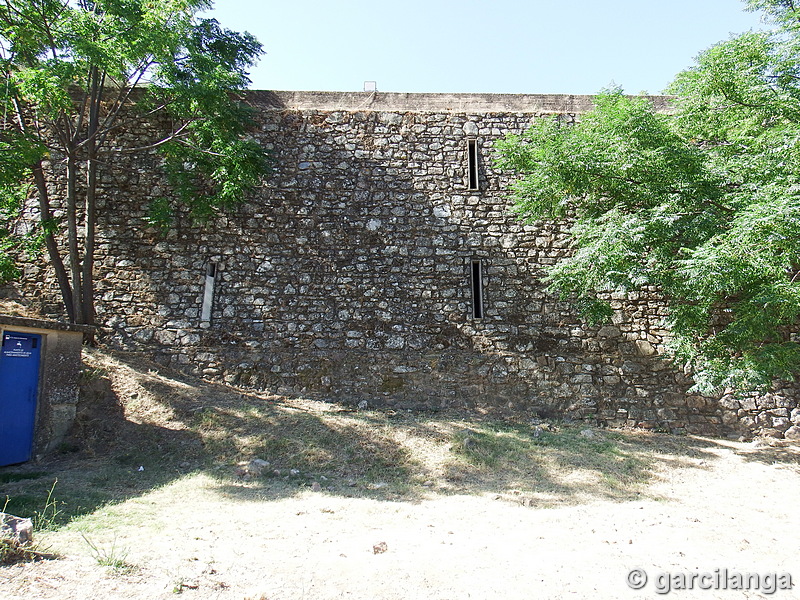
[[[57, 528], [193, 473], [242, 501], [309, 490], [385, 501], [435, 494], [495, 494], [530, 506], [627, 501], [651, 497], [663, 467], [708, 468], [725, 444], [524, 416], [357, 411], [91, 351], [69, 441], [39, 463], [1, 468], [0, 501], [8, 498], [7, 512]], [[741, 453], [798, 463], [794, 449]]]

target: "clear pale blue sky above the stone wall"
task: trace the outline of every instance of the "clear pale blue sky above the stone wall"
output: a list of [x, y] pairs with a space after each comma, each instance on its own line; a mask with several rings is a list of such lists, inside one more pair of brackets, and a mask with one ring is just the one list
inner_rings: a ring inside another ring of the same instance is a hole
[[[266, 54], [253, 88], [658, 93], [731, 33], [740, 0], [217, 0], [210, 16]], [[209, 15], [206, 15], [209, 16]]]

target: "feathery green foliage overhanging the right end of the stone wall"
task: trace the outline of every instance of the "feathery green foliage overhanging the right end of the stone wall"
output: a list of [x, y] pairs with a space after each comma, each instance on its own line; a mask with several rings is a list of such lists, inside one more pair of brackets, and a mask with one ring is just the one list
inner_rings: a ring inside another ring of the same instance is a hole
[[800, 10], [749, 6], [775, 28], [700, 54], [668, 90], [674, 114], [606, 90], [578, 124], [498, 144], [520, 215], [574, 221], [551, 288], [596, 322], [605, 293], [655, 286], [703, 391], [800, 372]]

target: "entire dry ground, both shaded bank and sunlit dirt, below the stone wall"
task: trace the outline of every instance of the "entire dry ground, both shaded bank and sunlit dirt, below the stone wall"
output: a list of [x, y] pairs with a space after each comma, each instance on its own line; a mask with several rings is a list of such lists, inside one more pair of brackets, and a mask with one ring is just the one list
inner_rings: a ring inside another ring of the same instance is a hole
[[76, 439], [0, 469], [0, 500], [59, 556], [0, 567], [0, 598], [633, 599], [718, 569], [796, 587], [668, 597], [800, 597], [795, 446], [355, 411], [88, 362]]

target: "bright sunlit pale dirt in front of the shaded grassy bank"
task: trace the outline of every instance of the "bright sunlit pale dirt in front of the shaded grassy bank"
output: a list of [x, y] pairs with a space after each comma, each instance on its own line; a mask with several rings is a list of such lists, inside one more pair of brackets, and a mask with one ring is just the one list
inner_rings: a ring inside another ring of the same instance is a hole
[[[492, 494], [404, 502], [309, 490], [271, 500], [244, 484], [225, 489], [194, 475], [103, 509], [124, 518], [113, 531], [87, 537], [109, 552], [125, 549], [130, 570], [98, 565], [67, 527], [47, 535], [63, 558], [0, 569], [0, 596], [653, 598], [661, 595], [660, 573], [728, 569], [789, 573], [795, 588], [771, 597], [800, 597], [796, 449], [706, 440], [703, 454], [665, 456], [649, 499], [540, 509]], [[642, 591], [626, 583], [634, 568], [650, 578]], [[670, 595], [767, 596], [730, 589]]]

